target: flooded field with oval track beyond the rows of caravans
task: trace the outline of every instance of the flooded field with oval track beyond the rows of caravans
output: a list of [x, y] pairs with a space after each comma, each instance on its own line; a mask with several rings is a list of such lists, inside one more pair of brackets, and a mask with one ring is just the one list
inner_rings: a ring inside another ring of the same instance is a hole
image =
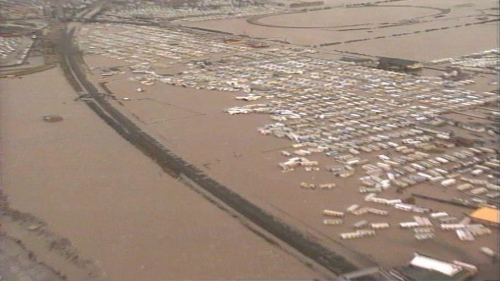
[[[269, 26], [254, 25], [244, 18], [183, 25], [311, 47], [339, 43], [322, 47], [328, 51], [430, 61], [495, 48], [498, 21], [480, 22], [497, 19], [496, 7], [491, 0], [399, 1], [390, 6], [340, 7], [257, 19]], [[439, 9], [450, 12], [434, 17]]]

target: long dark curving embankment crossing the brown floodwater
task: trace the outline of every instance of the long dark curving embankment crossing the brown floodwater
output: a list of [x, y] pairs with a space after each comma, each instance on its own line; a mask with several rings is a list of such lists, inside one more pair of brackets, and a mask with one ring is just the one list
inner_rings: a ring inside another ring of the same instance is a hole
[[75, 26], [65, 30], [61, 40], [61, 68], [65, 71], [66, 77], [73, 87], [83, 94], [82, 96], [85, 96], [83, 100], [87, 105], [120, 136], [153, 159], [168, 174], [175, 178], [188, 178], [245, 219], [328, 271], [339, 275], [357, 269], [343, 256], [327, 249], [317, 241], [311, 240], [299, 230], [284, 223], [230, 188], [210, 178], [194, 165], [184, 161], [115, 109], [107, 97], [99, 93], [95, 85], [87, 79], [80, 69], [80, 63], [77, 59], [77, 54], [80, 53], [72, 42], [77, 25], [73, 25]]

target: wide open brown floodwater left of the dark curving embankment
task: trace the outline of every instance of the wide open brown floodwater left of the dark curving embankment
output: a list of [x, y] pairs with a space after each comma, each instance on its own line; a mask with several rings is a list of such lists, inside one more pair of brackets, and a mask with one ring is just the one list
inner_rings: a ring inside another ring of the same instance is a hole
[[[75, 97], [59, 69], [2, 80], [3, 195], [11, 209], [69, 240], [103, 277], [319, 277], [164, 174]], [[65, 119], [46, 123], [47, 114]], [[2, 225], [39, 261], [69, 279], [85, 275], [18, 222], [3, 216]]]

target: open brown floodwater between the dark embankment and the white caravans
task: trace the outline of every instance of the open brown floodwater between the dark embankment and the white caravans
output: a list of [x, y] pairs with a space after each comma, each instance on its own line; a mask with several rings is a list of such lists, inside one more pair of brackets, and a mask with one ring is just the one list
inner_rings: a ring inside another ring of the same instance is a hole
[[[113, 76], [108, 87], [118, 98], [131, 98], [130, 101], [123, 103], [123, 112], [132, 120], [135, 119], [140, 123], [144, 119], [142, 116], [150, 115], [147, 106], [138, 106], [144, 101], [151, 102], [152, 106], [168, 104], [198, 113], [185, 116], [179, 112], [179, 118], [175, 118], [171, 116], [169, 109], [165, 108], [163, 111], [165, 117], [156, 117], [161, 121], [142, 122], [141, 126], [145, 131], [220, 183], [315, 237], [353, 263], [369, 266], [371, 260], [385, 268], [391, 268], [404, 264], [410, 260], [414, 252], [419, 252], [446, 261], [459, 259], [477, 265], [482, 274], [478, 275], [478, 278], [492, 278], [497, 275], [496, 266], [479, 249], [483, 246], [497, 248], [498, 230], [467, 243], [459, 241], [454, 232], [440, 230], [434, 241], [416, 241], [411, 230], [399, 228], [400, 222], [413, 220], [413, 213], [363, 201], [366, 194], [358, 192], [357, 180], [362, 176], [362, 172], [358, 171], [352, 177], [341, 181], [324, 170], [281, 172], [277, 163], [286, 158], [282, 157], [279, 151], [289, 149], [291, 142], [257, 133], [257, 127], [273, 122], [267, 115], [231, 116], [224, 113], [222, 110], [227, 107], [245, 104], [234, 99], [238, 93], [179, 88], [162, 83], [145, 87], [145, 92], [137, 93], [134, 92], [134, 83], [127, 81], [126, 78], [126, 74]], [[457, 132], [457, 134], [466, 133]], [[490, 145], [495, 147], [497, 142]], [[362, 154], [361, 157], [374, 160], [376, 156]], [[311, 156], [310, 159], [318, 160], [321, 165], [334, 164], [333, 159], [322, 155]], [[299, 187], [300, 182], [315, 184], [335, 182], [338, 187], [332, 190], [304, 190]], [[389, 189], [384, 192], [383, 197], [406, 198], [411, 196], [411, 192], [446, 198], [464, 197], [464, 194], [454, 188], [446, 189], [439, 183], [419, 185], [404, 192], [395, 193], [394, 189]], [[389, 211], [389, 216], [366, 215], [362, 218], [348, 216], [342, 226], [322, 224], [323, 209], [345, 210], [351, 204], [384, 209]], [[463, 213], [470, 212], [470, 209], [423, 199], [418, 199], [416, 204], [433, 210], [446, 210], [458, 218], [462, 218]], [[347, 241], [340, 239], [340, 233], [352, 231], [352, 224], [363, 219], [370, 222], [388, 222], [391, 228], [380, 230], [376, 236], [367, 239]], [[387, 252], [391, 254], [388, 255]]]

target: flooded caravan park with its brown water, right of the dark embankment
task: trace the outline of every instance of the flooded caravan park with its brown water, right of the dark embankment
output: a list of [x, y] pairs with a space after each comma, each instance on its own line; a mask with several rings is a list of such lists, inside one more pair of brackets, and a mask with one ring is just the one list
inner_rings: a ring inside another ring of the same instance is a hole
[[[415, 76], [312, 48], [165, 29], [97, 25], [79, 42], [89, 67], [99, 56], [116, 61], [95, 78], [174, 152], [345, 255], [332, 241], [385, 267], [412, 251], [448, 260], [460, 252], [492, 272], [479, 249], [496, 247], [497, 230], [464, 221], [464, 212], [497, 205], [500, 194], [493, 76]], [[494, 52], [471, 55], [474, 67], [491, 68]], [[463, 63], [470, 74], [469, 57], [432, 66]], [[197, 114], [153, 117], [144, 102]], [[468, 115], [478, 108], [481, 118]], [[385, 256], [384, 248], [404, 250]]]

